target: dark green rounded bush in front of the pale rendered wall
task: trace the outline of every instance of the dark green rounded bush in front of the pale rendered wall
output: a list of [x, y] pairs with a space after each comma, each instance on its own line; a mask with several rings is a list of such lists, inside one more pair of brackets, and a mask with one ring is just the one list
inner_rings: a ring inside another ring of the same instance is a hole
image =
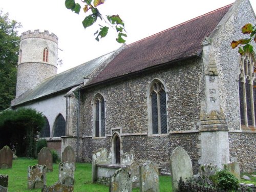
[[35, 157], [35, 140], [45, 124], [41, 113], [20, 108], [0, 113], [0, 148], [8, 145], [17, 156]]

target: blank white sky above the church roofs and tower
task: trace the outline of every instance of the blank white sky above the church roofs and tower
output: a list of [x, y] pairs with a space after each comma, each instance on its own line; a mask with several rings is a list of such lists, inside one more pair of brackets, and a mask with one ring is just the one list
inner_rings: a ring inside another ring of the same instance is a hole
[[[128, 35], [125, 38], [126, 44], [131, 44], [233, 2], [234, 0], [107, 0], [98, 9], [103, 15], [119, 14]], [[256, 1], [250, 0], [250, 3], [256, 12]], [[66, 9], [65, 0], [0, 0], [0, 9], [4, 13], [8, 12], [10, 19], [22, 23], [19, 34], [28, 30], [46, 29], [58, 36], [58, 47], [63, 50], [58, 52], [59, 58], [63, 60], [58, 72], [121, 46], [116, 42], [116, 33], [112, 29], [109, 29], [108, 36], [97, 42], [93, 34], [98, 26], [84, 30], [81, 24], [85, 16], [83, 10], [79, 15], [72, 13]]]

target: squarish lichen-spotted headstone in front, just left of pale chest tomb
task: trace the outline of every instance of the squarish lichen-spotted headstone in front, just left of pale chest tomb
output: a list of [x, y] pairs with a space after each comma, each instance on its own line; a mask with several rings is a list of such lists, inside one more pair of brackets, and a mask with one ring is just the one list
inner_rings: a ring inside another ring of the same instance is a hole
[[75, 163], [64, 162], [59, 163], [59, 181], [65, 185], [74, 185], [75, 181]]

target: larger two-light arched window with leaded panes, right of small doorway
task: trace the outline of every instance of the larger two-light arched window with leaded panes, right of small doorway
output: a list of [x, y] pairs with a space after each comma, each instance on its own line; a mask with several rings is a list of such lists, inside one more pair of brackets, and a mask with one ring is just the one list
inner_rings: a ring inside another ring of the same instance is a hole
[[167, 134], [166, 92], [160, 80], [150, 86], [150, 134]]

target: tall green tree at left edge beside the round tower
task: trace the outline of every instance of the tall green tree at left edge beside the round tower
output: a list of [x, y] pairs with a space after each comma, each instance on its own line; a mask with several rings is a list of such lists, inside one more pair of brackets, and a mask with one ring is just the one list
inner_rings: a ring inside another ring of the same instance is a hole
[[8, 18], [0, 10], [0, 111], [15, 98], [20, 23]]

